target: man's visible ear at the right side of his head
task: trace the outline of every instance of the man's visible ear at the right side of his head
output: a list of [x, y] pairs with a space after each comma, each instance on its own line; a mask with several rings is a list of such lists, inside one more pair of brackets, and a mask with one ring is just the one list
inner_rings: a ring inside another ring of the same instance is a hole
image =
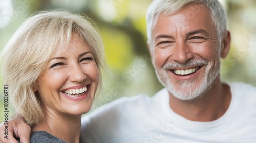
[[231, 44], [231, 35], [230, 32], [227, 30], [222, 41], [221, 41], [221, 58], [226, 58], [227, 54], [230, 50]]

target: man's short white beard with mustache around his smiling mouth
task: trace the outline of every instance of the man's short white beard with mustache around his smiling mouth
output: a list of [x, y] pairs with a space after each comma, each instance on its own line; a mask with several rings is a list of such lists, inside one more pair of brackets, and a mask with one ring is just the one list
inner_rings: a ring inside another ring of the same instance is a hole
[[[167, 88], [170, 93], [173, 94], [174, 97], [180, 100], [191, 100], [205, 92], [207, 87], [209, 87], [211, 83], [216, 79], [220, 70], [220, 60], [217, 62], [217, 67], [215, 67], [214, 62], [192, 59], [184, 64], [179, 62], [166, 63], [160, 70], [158, 70], [156, 67], [155, 70], [158, 80]], [[170, 72], [168, 69], [185, 68], [195, 65], [206, 66], [205, 74], [203, 75], [202, 80], [191, 79], [176, 81], [176, 83], [173, 83], [171, 77], [168, 75], [168, 72]], [[179, 86], [179, 88], [177, 86]]]

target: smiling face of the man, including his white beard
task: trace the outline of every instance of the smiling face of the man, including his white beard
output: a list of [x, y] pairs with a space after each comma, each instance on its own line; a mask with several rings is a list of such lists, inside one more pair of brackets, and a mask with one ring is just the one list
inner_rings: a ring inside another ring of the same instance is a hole
[[160, 82], [178, 99], [198, 97], [220, 70], [220, 44], [210, 10], [200, 5], [193, 17], [187, 5], [161, 14], [152, 29], [150, 52]]

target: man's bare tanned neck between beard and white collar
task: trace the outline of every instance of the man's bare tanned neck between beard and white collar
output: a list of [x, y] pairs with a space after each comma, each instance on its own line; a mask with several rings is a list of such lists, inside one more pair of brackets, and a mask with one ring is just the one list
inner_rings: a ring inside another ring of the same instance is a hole
[[230, 101], [230, 87], [218, 81], [210, 90], [193, 100], [179, 100], [170, 94], [169, 103], [175, 113], [188, 120], [213, 121], [227, 111]]

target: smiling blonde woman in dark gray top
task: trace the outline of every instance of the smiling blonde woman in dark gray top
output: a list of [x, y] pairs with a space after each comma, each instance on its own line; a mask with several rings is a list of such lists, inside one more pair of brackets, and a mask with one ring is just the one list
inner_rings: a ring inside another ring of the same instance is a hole
[[104, 69], [101, 38], [87, 19], [44, 11], [27, 19], [1, 52], [5, 84], [31, 142], [79, 142]]

